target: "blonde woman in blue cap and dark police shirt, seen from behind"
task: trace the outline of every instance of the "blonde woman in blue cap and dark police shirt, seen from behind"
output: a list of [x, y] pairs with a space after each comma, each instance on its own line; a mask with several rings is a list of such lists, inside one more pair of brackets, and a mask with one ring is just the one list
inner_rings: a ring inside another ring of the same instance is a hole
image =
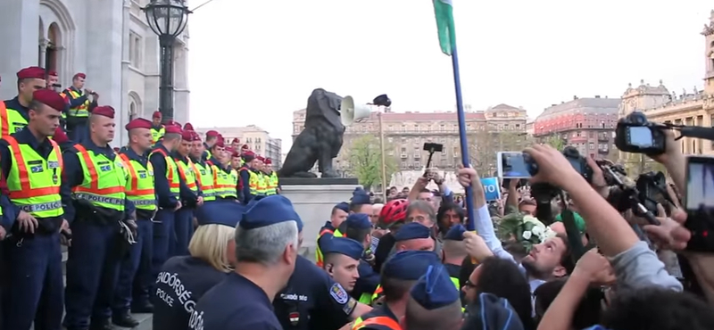
[[198, 227], [188, 256], [167, 260], [154, 284], [154, 330], [188, 328], [195, 302], [222, 281], [236, 262], [235, 227], [245, 207], [212, 201], [196, 209]]

